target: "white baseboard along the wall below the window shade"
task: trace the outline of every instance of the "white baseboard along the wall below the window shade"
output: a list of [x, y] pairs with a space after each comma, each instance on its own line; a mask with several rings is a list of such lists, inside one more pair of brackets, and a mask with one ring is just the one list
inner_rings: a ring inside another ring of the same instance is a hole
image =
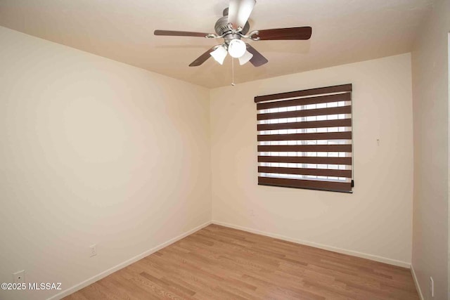
[[229, 227], [229, 228], [234, 228], [234, 229], [238, 229], [238, 230], [244, 230], [247, 231], [249, 233], [256, 233], [258, 235], [265, 235], [268, 237], [275, 237], [277, 239], [280, 240], [286, 240], [288, 242], [295, 242], [297, 244], [304, 244], [307, 246], [311, 246], [311, 247], [316, 247], [316, 248], [320, 248], [320, 249], [325, 249], [325, 250], [329, 250], [329, 251], [333, 251], [333, 252], [338, 252], [341, 254], [348, 254], [348, 255], [352, 255], [352, 256], [356, 256], [356, 257], [361, 257], [363, 259], [370, 259], [372, 261], [379, 261], [381, 263], [389, 263], [390, 265], [394, 265], [394, 266], [400, 266], [400, 267], [404, 267], [404, 268], [410, 268], [411, 267], [411, 263], [407, 263], [406, 261], [397, 261], [395, 259], [387, 259], [386, 257], [383, 256], [376, 256], [373, 254], [366, 254], [366, 253], [362, 253], [362, 252], [356, 252], [356, 251], [352, 251], [352, 250], [347, 250], [347, 249], [342, 249], [342, 248], [338, 248], [338, 247], [333, 247], [333, 246], [328, 246], [326, 244], [318, 244], [315, 242], [308, 242], [305, 240], [297, 240], [295, 238], [292, 237], [285, 237], [283, 235], [278, 235], [276, 233], [266, 233], [264, 231], [261, 230], [256, 230], [256, 229], [252, 229], [252, 228], [247, 228], [247, 227], [243, 227], [243, 226], [238, 226], [238, 225], [233, 225], [230, 223], [224, 223], [221, 221], [212, 221], [213, 224], [217, 224], [217, 225], [221, 225], [221, 226], [225, 226], [225, 227]]

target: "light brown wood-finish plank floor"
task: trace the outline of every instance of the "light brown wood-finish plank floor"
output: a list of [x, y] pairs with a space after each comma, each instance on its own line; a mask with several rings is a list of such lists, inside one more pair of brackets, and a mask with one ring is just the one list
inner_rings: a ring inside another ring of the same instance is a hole
[[65, 299], [419, 299], [409, 269], [210, 225]]

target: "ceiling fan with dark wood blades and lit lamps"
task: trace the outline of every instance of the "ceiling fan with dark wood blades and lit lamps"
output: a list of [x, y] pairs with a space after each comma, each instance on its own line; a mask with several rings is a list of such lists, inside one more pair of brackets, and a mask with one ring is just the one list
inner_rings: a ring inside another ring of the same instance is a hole
[[[311, 27], [290, 27], [271, 30], [250, 30], [248, 18], [255, 7], [256, 0], [230, 0], [229, 8], [224, 9], [223, 17], [217, 20], [214, 30], [216, 34], [204, 32], [184, 32], [172, 30], [155, 30], [155, 35], [178, 36], [178, 37], [205, 37], [207, 39], [223, 38], [222, 44], [210, 48], [208, 51], [194, 60], [189, 67], [196, 67], [205, 63], [212, 56], [218, 63], [223, 64], [226, 54], [238, 58], [240, 65], [250, 61], [255, 67], [264, 65], [269, 60], [264, 58], [250, 44], [242, 39], [252, 41], [269, 40], [302, 40], [311, 37]], [[247, 34], [247, 35], [246, 35]]]

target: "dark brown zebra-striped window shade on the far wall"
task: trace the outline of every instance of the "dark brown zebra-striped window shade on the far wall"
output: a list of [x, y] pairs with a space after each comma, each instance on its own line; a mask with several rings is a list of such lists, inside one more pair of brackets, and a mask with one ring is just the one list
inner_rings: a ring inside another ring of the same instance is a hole
[[352, 193], [352, 84], [255, 103], [259, 185]]

